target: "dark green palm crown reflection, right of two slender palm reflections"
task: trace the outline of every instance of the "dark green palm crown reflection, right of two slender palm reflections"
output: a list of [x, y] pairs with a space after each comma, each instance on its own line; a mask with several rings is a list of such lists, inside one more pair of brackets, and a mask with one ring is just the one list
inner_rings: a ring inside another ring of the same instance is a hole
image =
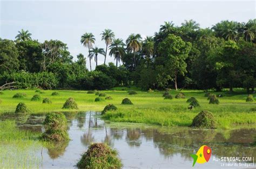
[[142, 144], [142, 139], [140, 138], [142, 131], [140, 129], [126, 129], [126, 141], [133, 147], [139, 147]]

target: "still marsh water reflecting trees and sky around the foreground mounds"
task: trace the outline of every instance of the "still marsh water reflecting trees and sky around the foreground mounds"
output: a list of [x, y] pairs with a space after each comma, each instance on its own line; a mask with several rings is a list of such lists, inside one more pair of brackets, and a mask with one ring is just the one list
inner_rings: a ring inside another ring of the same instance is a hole
[[[119, 153], [123, 168], [192, 168], [191, 153], [200, 146], [212, 148], [208, 163], [193, 168], [255, 168], [256, 129], [196, 130], [190, 127], [159, 127], [110, 123], [95, 112], [65, 113], [70, 141], [52, 148], [38, 147], [39, 168], [75, 168], [91, 143], [104, 142]], [[43, 132], [44, 116], [19, 119], [19, 130]], [[246, 163], [220, 161], [221, 157], [252, 157]], [[219, 158], [219, 159], [218, 159]], [[215, 160], [214, 160], [215, 159]], [[217, 161], [218, 160], [218, 161]], [[223, 166], [230, 165], [230, 166]], [[254, 165], [254, 166], [253, 166]]]

